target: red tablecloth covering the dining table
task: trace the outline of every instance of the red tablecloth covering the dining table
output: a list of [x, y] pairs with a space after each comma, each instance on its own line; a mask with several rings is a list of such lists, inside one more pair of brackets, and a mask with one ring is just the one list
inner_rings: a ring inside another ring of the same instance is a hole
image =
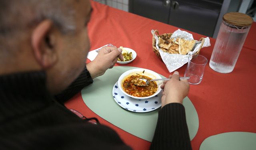
[[[137, 53], [136, 59], [128, 64], [115, 66], [131, 66], [153, 70], [168, 77], [170, 74], [164, 62], [156, 56], [152, 49], [151, 30], [159, 34], [173, 33], [179, 28], [164, 24], [136, 14], [118, 10], [91, 0], [92, 14], [88, 24], [90, 50], [95, 50], [106, 44], [131, 48]], [[166, 14], [167, 15], [167, 14]], [[187, 22], [188, 24], [192, 22]], [[203, 24], [204, 22], [201, 22]], [[186, 29], [195, 40], [206, 38], [202, 34]], [[202, 48], [200, 55], [208, 59], [202, 82], [190, 85], [188, 98], [198, 114], [199, 127], [191, 139], [193, 150], [199, 150], [202, 142], [213, 135], [225, 132], [256, 133], [256, 22], [253, 22], [234, 70], [222, 74], [212, 70], [209, 61], [216, 39], [210, 37], [211, 46]], [[90, 60], [85, 60], [89, 63]], [[184, 76], [187, 64], [177, 69]], [[109, 69], [111, 71], [111, 69]], [[117, 80], [116, 80], [117, 81]], [[85, 87], [90, 88], [90, 87]], [[112, 91], [112, 89], [111, 89]], [[100, 117], [85, 103], [81, 92], [65, 102], [65, 106], [74, 109], [87, 118], [98, 118], [104, 124], [115, 130], [120, 138], [134, 150], [147, 150], [151, 142], [134, 136]], [[120, 107], [120, 109], [122, 109]], [[122, 111], [126, 111], [123, 110]]]

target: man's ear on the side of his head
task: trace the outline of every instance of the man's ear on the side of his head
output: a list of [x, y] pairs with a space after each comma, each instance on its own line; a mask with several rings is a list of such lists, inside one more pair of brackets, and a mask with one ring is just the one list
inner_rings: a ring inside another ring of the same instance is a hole
[[32, 32], [32, 49], [38, 63], [43, 69], [50, 68], [57, 60], [56, 35], [53, 33], [53, 22], [43, 20]]

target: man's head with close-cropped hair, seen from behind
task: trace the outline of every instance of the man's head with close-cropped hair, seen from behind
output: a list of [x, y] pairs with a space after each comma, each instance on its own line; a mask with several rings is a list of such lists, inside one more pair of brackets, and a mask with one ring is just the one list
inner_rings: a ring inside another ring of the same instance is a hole
[[0, 75], [44, 70], [53, 93], [83, 70], [90, 0], [0, 0]]

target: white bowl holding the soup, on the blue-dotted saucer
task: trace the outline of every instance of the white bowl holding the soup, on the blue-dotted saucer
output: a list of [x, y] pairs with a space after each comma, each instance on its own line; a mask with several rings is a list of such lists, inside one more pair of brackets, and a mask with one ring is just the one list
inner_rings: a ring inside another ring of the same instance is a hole
[[[145, 71], [144, 71], [145, 70]], [[144, 73], [142, 73], [144, 71]], [[147, 99], [147, 98], [152, 98], [154, 96], [156, 96], [162, 89], [160, 88], [160, 84], [162, 84], [162, 82], [160, 81], [156, 81], [157, 85], [158, 85], [158, 89], [156, 90], [156, 92], [153, 94], [153, 95], [150, 95], [150, 96], [146, 96], [146, 97], [136, 97], [136, 96], [131, 96], [130, 94], [126, 93], [123, 89], [123, 82], [124, 80], [126, 80], [126, 78], [128, 78], [129, 76], [132, 76], [132, 75], [136, 75], [136, 74], [141, 74], [141, 75], [144, 75], [144, 76], [148, 76], [152, 79], [161, 79], [162, 77], [152, 71], [152, 70], [148, 70], [148, 69], [144, 69], [144, 68], [136, 68], [136, 69], [132, 69], [132, 70], [128, 70], [126, 72], [124, 72], [118, 79], [118, 86], [121, 90], [121, 92], [123, 92], [125, 95], [131, 97], [131, 98], [135, 98], [137, 100], [144, 100], [144, 99]]]

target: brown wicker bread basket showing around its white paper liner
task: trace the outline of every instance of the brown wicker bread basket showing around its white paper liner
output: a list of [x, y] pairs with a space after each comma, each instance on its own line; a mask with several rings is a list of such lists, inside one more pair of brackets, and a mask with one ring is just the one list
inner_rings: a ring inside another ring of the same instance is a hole
[[[156, 34], [157, 33], [157, 34]], [[153, 51], [156, 54], [156, 56], [158, 56], [159, 58], [161, 58], [160, 53], [158, 51], [158, 49], [156, 48], [156, 39], [154, 38], [154, 35], [156, 34], [156, 36], [162, 38], [162, 39], [169, 39], [172, 36], [172, 33], [165, 33], [162, 35], [159, 35], [158, 30], [154, 30], [153, 33], [153, 38], [152, 38], [152, 47], [153, 47]], [[199, 54], [203, 44], [204, 44], [204, 38], [200, 38], [199, 41], [202, 41], [199, 50], [196, 52], [196, 54]], [[167, 50], [163, 50], [164, 52], [168, 52]], [[162, 59], [162, 58], [161, 58]]]

